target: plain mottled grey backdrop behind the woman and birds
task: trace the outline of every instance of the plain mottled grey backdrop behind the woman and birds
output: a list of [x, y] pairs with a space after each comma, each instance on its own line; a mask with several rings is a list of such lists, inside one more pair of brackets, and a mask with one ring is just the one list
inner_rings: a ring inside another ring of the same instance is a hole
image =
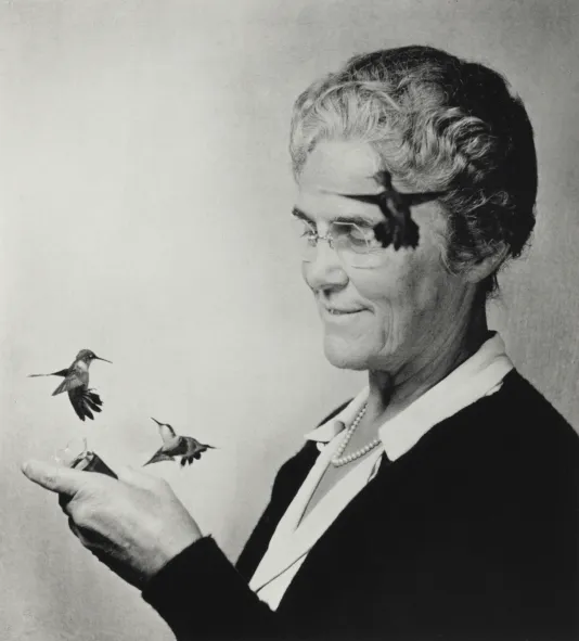
[[[287, 229], [293, 100], [353, 53], [442, 47], [525, 100], [538, 225], [490, 311], [579, 425], [578, 15], [572, 0], [2, 3], [0, 638], [171, 639], [24, 459], [85, 435], [113, 467], [140, 465], [159, 446], [150, 416], [169, 422], [220, 449], [151, 473], [234, 559], [276, 467], [362, 384], [324, 361]], [[80, 348], [114, 362], [92, 366], [104, 411], [87, 425], [57, 380], [26, 377]]]

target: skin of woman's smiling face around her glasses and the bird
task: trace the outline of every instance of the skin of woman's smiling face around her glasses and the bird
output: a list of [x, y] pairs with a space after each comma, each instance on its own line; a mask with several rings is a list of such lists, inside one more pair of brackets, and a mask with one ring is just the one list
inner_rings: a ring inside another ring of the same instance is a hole
[[[378, 193], [383, 188], [374, 176], [379, 169], [366, 143], [322, 142], [298, 179], [296, 208], [322, 236], [336, 219], [363, 217], [374, 226], [384, 219], [376, 205], [339, 194]], [[427, 366], [460, 339], [473, 285], [449, 273], [441, 260], [446, 218], [440, 206], [430, 202], [413, 207], [412, 218], [419, 245], [381, 249], [376, 267], [349, 267], [324, 241], [318, 243], [316, 257], [304, 262], [303, 274], [323, 321], [325, 355], [334, 366], [396, 375]]]

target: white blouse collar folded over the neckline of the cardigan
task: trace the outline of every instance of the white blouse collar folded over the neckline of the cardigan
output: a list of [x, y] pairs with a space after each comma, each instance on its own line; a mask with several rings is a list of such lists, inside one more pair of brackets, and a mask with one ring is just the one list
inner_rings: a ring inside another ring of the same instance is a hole
[[[479, 398], [497, 392], [513, 367], [501, 336], [493, 333], [471, 358], [379, 427], [379, 438], [388, 459], [395, 461], [400, 458], [430, 427]], [[366, 386], [344, 410], [306, 434], [305, 438], [320, 444], [330, 443], [345, 425], [351, 424], [365, 402], [368, 393]]]

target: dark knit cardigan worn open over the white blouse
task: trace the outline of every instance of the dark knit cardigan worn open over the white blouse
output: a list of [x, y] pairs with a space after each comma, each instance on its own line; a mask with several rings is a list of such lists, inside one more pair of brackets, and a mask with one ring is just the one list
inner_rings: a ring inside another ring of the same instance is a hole
[[381, 465], [272, 612], [247, 581], [317, 456], [281, 467], [236, 568], [207, 537], [151, 580], [180, 641], [579, 638], [579, 438], [516, 371]]

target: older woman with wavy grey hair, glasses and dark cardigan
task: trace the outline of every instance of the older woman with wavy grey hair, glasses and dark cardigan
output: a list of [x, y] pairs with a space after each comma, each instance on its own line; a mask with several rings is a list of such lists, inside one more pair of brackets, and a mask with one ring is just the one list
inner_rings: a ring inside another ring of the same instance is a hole
[[571, 639], [579, 440], [487, 329], [532, 231], [522, 102], [427, 47], [350, 60], [297, 101], [304, 278], [368, 386], [279, 472], [236, 567], [163, 482], [29, 463], [178, 639]]

